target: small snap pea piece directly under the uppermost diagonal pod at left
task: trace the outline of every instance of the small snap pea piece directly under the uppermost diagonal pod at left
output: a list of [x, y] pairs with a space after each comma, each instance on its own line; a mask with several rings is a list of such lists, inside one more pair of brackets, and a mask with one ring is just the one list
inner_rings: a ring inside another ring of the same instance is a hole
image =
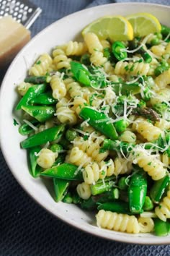
[[55, 104], [57, 100], [53, 98], [52, 91], [48, 91], [46, 93], [41, 93], [37, 95], [37, 97], [32, 98], [30, 103], [39, 104], [39, 105], [52, 105]]

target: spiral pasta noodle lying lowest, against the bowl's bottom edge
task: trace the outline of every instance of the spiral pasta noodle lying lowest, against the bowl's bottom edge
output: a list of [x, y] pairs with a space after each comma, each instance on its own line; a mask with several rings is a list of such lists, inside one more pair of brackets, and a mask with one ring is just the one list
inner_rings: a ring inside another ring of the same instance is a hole
[[135, 216], [99, 210], [96, 218], [97, 226], [100, 228], [134, 234], [138, 234], [140, 231], [138, 219]]

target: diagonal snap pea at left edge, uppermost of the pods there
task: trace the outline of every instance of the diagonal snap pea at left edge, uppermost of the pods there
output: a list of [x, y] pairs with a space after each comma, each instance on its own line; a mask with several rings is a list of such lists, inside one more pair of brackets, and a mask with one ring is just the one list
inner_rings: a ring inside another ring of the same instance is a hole
[[40, 95], [41, 93], [44, 93], [47, 88], [47, 85], [33, 85], [27, 90], [27, 93], [24, 94], [24, 96], [21, 98], [19, 103], [16, 106], [16, 110], [19, 110], [22, 108], [22, 106], [27, 106], [28, 103], [32, 100], [32, 98], [35, 98], [37, 95]]

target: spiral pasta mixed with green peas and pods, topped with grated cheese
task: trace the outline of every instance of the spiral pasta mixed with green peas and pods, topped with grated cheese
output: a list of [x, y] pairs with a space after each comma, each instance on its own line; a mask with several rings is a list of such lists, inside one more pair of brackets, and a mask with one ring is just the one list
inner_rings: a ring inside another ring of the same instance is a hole
[[[17, 85], [30, 173], [56, 178], [56, 198], [96, 211], [102, 229], [153, 233], [153, 218], [169, 223], [166, 37], [123, 41], [82, 33], [81, 41], [41, 54]], [[154, 186], [162, 189], [158, 200]]]

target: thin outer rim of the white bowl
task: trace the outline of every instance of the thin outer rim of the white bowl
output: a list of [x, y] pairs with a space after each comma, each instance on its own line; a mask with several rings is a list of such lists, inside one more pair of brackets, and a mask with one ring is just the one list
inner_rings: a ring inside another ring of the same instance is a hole
[[[1, 88], [0, 88], [0, 124], [2, 123], [1, 122], [1, 111], [3, 108], [1, 108], [1, 98], [2, 98], [2, 94], [3, 94], [3, 90], [4, 90], [4, 87], [5, 87], [5, 84], [6, 84], [6, 79], [7, 77], [9, 76], [9, 73], [11, 72], [11, 69], [14, 67], [14, 64], [15, 62], [17, 61], [17, 59], [20, 58], [20, 56], [22, 55], [22, 52], [25, 51], [27, 49], [27, 47], [30, 46], [30, 43], [33, 43], [42, 33], [45, 33], [46, 30], [49, 30], [50, 27], [53, 27], [56, 23], [58, 22], [62, 22], [63, 20], [65, 19], [68, 19], [68, 18], [71, 18], [73, 17], [74, 15], [76, 14], [81, 14], [83, 12], [86, 12], [88, 11], [89, 9], [102, 9], [103, 7], [113, 7], [113, 6], [117, 6], [117, 7], [121, 7], [121, 6], [129, 6], [130, 4], [133, 4], [135, 5], [136, 7], [138, 6], [143, 6], [143, 5], [147, 5], [149, 7], [159, 7], [159, 8], [163, 8], [163, 9], [169, 9], [170, 11], [170, 6], [168, 5], [163, 5], [163, 4], [153, 4], [153, 3], [145, 3], [145, 2], [126, 2], [126, 3], [112, 3], [112, 4], [102, 4], [102, 5], [99, 5], [99, 6], [96, 6], [96, 7], [89, 7], [89, 8], [86, 8], [86, 9], [82, 9], [78, 12], [73, 12], [59, 20], [56, 20], [54, 22], [52, 22], [50, 25], [48, 25], [47, 27], [45, 27], [44, 29], [42, 29], [39, 33], [37, 33], [37, 35], [35, 35], [29, 43], [27, 43], [26, 46], [24, 46], [24, 48], [22, 48], [21, 51], [19, 51], [19, 54], [17, 54], [17, 56], [14, 58], [14, 60], [12, 61], [12, 63], [9, 65], [9, 68], [7, 69], [6, 71], [6, 74], [4, 75], [4, 79], [2, 80], [1, 82]], [[95, 227], [94, 226], [94, 229], [91, 229], [91, 227], [87, 226], [86, 228], [85, 227], [81, 227], [79, 226], [79, 223], [76, 223], [76, 222], [73, 222], [73, 221], [70, 221], [68, 218], [63, 218], [63, 216], [58, 216], [56, 213], [53, 213], [52, 210], [50, 210], [50, 208], [48, 208], [46, 205], [43, 205], [42, 202], [40, 202], [40, 200], [37, 199], [37, 197], [35, 196], [35, 194], [32, 192], [32, 190], [30, 189], [30, 187], [26, 187], [24, 186], [24, 184], [21, 182], [21, 180], [19, 179], [19, 177], [17, 176], [17, 174], [15, 173], [14, 171], [14, 168], [12, 166], [12, 163], [10, 163], [9, 161], [9, 158], [7, 157], [7, 154], [6, 154], [6, 147], [4, 145], [4, 140], [2, 139], [2, 127], [0, 125], [0, 148], [1, 148], [1, 152], [4, 156], [4, 159], [6, 161], [6, 164], [7, 166], [9, 167], [9, 170], [12, 172], [12, 175], [14, 176], [14, 178], [17, 180], [17, 182], [19, 183], [19, 185], [22, 187], [22, 189], [24, 189], [25, 192], [27, 192], [27, 194], [32, 197], [33, 200], [35, 200], [36, 203], [38, 203], [38, 205], [40, 205], [42, 208], [44, 208], [45, 210], [48, 210], [48, 213], [51, 213], [53, 216], [55, 216], [55, 218], [58, 218], [60, 219], [61, 221], [67, 223], [69, 226], [72, 226], [76, 229], [79, 229], [80, 231], [84, 231], [85, 233], [87, 234], [92, 234], [94, 236], [98, 236], [102, 239], [109, 239], [109, 240], [112, 240], [112, 241], [116, 241], [116, 242], [123, 242], [123, 243], [129, 243], [129, 244], [147, 244], [147, 245], [158, 245], [158, 244], [170, 244], [170, 236], [164, 236], [164, 238], [168, 238], [168, 239], [165, 239], [167, 241], [154, 241], [154, 236], [153, 236], [153, 239], [151, 239], [151, 241], [148, 239], [148, 237], [145, 238], [145, 236], [135, 236], [135, 235], [131, 235], [131, 236], [123, 236], [122, 232], [116, 232], [116, 231], [112, 231], [112, 234], [115, 233], [116, 236], [109, 236], [109, 231], [107, 229], [104, 229], [104, 233], [106, 233], [106, 235], [103, 235], [102, 232], [96, 232], [96, 229], [99, 230], [98, 227]], [[103, 230], [103, 229], [102, 229]], [[107, 236], [107, 231], [108, 231], [108, 236]], [[119, 234], [120, 234], [120, 237], [119, 237]], [[118, 237], [117, 237], [118, 236]], [[122, 237], [125, 239], [122, 241]], [[157, 236], [156, 236], [157, 237]], [[136, 239], [137, 238], [137, 239]], [[141, 239], [141, 241], [140, 241]]]

